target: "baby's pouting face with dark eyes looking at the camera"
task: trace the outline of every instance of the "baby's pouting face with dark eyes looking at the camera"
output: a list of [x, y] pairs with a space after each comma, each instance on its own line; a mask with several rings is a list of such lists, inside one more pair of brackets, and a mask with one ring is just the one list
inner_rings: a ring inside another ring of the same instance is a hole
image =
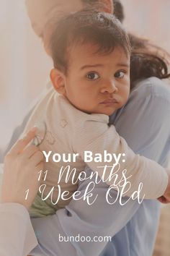
[[130, 56], [116, 47], [111, 54], [94, 54], [97, 46], [78, 45], [69, 52], [65, 96], [88, 114], [113, 114], [130, 93]]

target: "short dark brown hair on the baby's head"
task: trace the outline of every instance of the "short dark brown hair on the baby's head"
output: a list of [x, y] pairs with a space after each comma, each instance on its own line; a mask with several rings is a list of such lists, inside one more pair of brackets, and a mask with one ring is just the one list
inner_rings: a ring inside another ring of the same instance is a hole
[[94, 54], [109, 54], [120, 47], [130, 55], [131, 47], [122, 24], [112, 14], [94, 9], [81, 10], [58, 22], [50, 40], [50, 54], [54, 67], [66, 74], [69, 50], [76, 44], [97, 46]]

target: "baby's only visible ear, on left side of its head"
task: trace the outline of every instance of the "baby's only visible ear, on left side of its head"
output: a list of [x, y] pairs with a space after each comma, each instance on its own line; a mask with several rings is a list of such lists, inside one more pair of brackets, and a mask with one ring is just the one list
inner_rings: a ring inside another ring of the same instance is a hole
[[65, 76], [60, 70], [52, 69], [50, 71], [50, 80], [53, 83], [53, 87], [58, 93], [62, 95], [66, 93]]

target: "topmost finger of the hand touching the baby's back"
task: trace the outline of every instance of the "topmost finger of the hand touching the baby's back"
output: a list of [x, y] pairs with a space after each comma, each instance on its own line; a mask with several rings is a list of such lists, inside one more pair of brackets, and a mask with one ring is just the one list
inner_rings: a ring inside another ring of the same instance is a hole
[[17, 141], [17, 143], [9, 151], [9, 154], [19, 155], [19, 153], [22, 153], [22, 151], [28, 145], [28, 143], [30, 143], [32, 139], [35, 137], [36, 131], [37, 131], [37, 127], [32, 128], [30, 132], [28, 132], [27, 135], [22, 140]]

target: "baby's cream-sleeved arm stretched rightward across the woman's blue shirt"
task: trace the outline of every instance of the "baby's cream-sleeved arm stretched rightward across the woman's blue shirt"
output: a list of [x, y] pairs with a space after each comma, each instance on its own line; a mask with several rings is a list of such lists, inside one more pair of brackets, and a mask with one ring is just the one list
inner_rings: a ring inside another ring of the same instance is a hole
[[[85, 150], [91, 151], [93, 155], [94, 153], [101, 153], [103, 155], [104, 150], [107, 150], [107, 153], [115, 153], [116, 155], [125, 153], [125, 163], [122, 162], [121, 158], [120, 171], [117, 173], [119, 174], [117, 181], [120, 181], [122, 178], [122, 170], [124, 169], [127, 170], [125, 176], [127, 178], [131, 176], [130, 179], [128, 179], [131, 187], [124, 195], [131, 196], [134, 191], [138, 190], [140, 182], [143, 183], [140, 197], [145, 195], [146, 199], [156, 199], [164, 195], [168, 184], [168, 176], [165, 169], [158, 163], [133, 153], [133, 150], [128, 147], [127, 142], [118, 135], [115, 127], [113, 125], [110, 127], [107, 125], [107, 119], [104, 115], [93, 115], [93, 117], [94, 118], [91, 116], [89, 120], [84, 121], [82, 126], [80, 125], [79, 127], [78, 125], [79, 129], [77, 129], [75, 133], [75, 149], [80, 153], [81, 157], [84, 158]], [[78, 133], [81, 140], [77, 137]], [[81, 143], [79, 143], [79, 141], [81, 141]], [[87, 164], [93, 171], [97, 171], [101, 177], [103, 168], [98, 168], [98, 166], [112, 166], [114, 163], [115, 161], [106, 163], [102, 160], [101, 163], [91, 161]], [[115, 171], [116, 170], [117, 168], [115, 167]], [[108, 176], [109, 171], [107, 171], [105, 177]], [[107, 181], [107, 184], [112, 185], [113, 182], [114, 178], [111, 181]]]

